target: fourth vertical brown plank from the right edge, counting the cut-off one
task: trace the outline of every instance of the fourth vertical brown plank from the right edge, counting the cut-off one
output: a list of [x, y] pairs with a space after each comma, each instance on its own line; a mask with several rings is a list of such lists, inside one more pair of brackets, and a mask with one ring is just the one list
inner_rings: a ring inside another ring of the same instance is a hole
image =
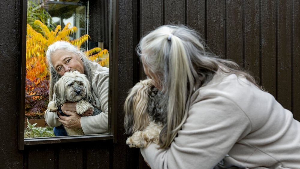
[[259, 0], [244, 3], [244, 68], [260, 81]]

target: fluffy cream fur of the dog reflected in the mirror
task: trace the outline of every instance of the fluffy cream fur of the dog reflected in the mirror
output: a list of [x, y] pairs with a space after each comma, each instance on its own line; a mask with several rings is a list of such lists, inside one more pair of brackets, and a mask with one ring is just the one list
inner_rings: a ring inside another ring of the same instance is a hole
[[[81, 74], [79, 71], [66, 72], [55, 83], [53, 89], [55, 98], [48, 104], [48, 109], [51, 112], [56, 112], [58, 107], [66, 102], [78, 102], [76, 104], [76, 111], [79, 115], [83, 114], [89, 108], [94, 111], [94, 107], [91, 104], [93, 98], [91, 86], [85, 74]], [[84, 134], [81, 128], [71, 130], [65, 127], [65, 129], [68, 135]]]

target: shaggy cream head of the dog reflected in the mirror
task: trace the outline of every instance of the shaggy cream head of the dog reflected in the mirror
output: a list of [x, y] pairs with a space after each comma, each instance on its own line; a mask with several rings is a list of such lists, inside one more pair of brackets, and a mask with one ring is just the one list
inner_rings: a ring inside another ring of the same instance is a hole
[[66, 72], [54, 85], [56, 106], [79, 100], [91, 101], [91, 87], [85, 74]]

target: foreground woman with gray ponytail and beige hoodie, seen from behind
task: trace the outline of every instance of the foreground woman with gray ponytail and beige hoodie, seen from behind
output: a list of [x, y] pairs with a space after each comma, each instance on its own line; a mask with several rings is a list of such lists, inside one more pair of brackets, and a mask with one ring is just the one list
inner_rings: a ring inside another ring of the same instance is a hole
[[165, 25], [137, 46], [165, 93], [160, 144], [141, 148], [152, 168], [299, 168], [300, 123], [235, 62], [186, 26]]

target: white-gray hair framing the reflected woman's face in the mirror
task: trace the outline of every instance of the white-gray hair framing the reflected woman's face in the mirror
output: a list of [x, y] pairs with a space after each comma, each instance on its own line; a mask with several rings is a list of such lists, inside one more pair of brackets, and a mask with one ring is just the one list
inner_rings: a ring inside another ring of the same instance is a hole
[[[51, 55], [52, 53], [56, 52], [57, 50], [65, 50], [72, 52], [78, 56], [81, 57], [83, 67], [84, 67], [84, 74], [88, 78], [88, 80], [92, 81], [92, 72], [91, 72], [91, 66], [90, 66], [90, 60], [86, 57], [85, 53], [79, 49], [77, 49], [74, 45], [70, 44], [66, 41], [56, 41], [53, 44], [49, 45], [47, 51], [46, 51], [46, 58], [48, 61], [48, 68], [50, 69], [50, 83], [49, 83], [49, 101], [52, 101], [53, 98], [53, 87], [54, 84], [58, 81], [58, 79], [61, 77], [56, 71], [55, 68], [52, 65], [51, 62]], [[91, 88], [92, 89], [92, 88]]]

